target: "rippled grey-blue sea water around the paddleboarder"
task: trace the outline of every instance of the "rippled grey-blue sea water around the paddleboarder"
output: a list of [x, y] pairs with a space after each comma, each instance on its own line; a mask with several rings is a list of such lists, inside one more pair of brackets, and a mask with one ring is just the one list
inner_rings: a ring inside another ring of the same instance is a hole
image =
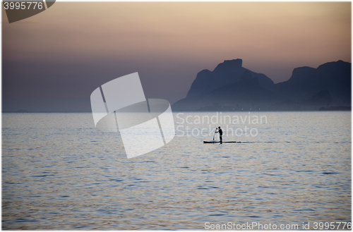
[[[92, 114], [2, 114], [2, 228], [352, 221], [350, 111], [174, 113], [174, 122], [171, 142], [127, 159], [119, 133], [97, 131]], [[241, 143], [203, 144], [216, 126]]]

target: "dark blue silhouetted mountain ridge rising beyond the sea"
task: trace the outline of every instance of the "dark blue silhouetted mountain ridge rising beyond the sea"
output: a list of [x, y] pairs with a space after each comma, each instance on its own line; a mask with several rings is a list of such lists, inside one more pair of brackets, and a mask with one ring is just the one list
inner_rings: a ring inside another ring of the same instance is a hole
[[186, 98], [172, 109], [318, 110], [332, 104], [351, 104], [351, 63], [294, 68], [289, 80], [274, 84], [266, 75], [242, 67], [241, 59], [233, 59], [199, 72]]

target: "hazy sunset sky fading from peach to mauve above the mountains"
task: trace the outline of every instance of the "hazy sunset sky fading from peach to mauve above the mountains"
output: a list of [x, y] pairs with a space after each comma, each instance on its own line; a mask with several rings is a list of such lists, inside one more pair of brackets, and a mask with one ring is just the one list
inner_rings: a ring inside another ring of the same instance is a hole
[[227, 59], [275, 83], [351, 62], [349, 2], [56, 2], [11, 24], [2, 13], [4, 100], [89, 105], [96, 87], [137, 71], [146, 97], [173, 103]]

